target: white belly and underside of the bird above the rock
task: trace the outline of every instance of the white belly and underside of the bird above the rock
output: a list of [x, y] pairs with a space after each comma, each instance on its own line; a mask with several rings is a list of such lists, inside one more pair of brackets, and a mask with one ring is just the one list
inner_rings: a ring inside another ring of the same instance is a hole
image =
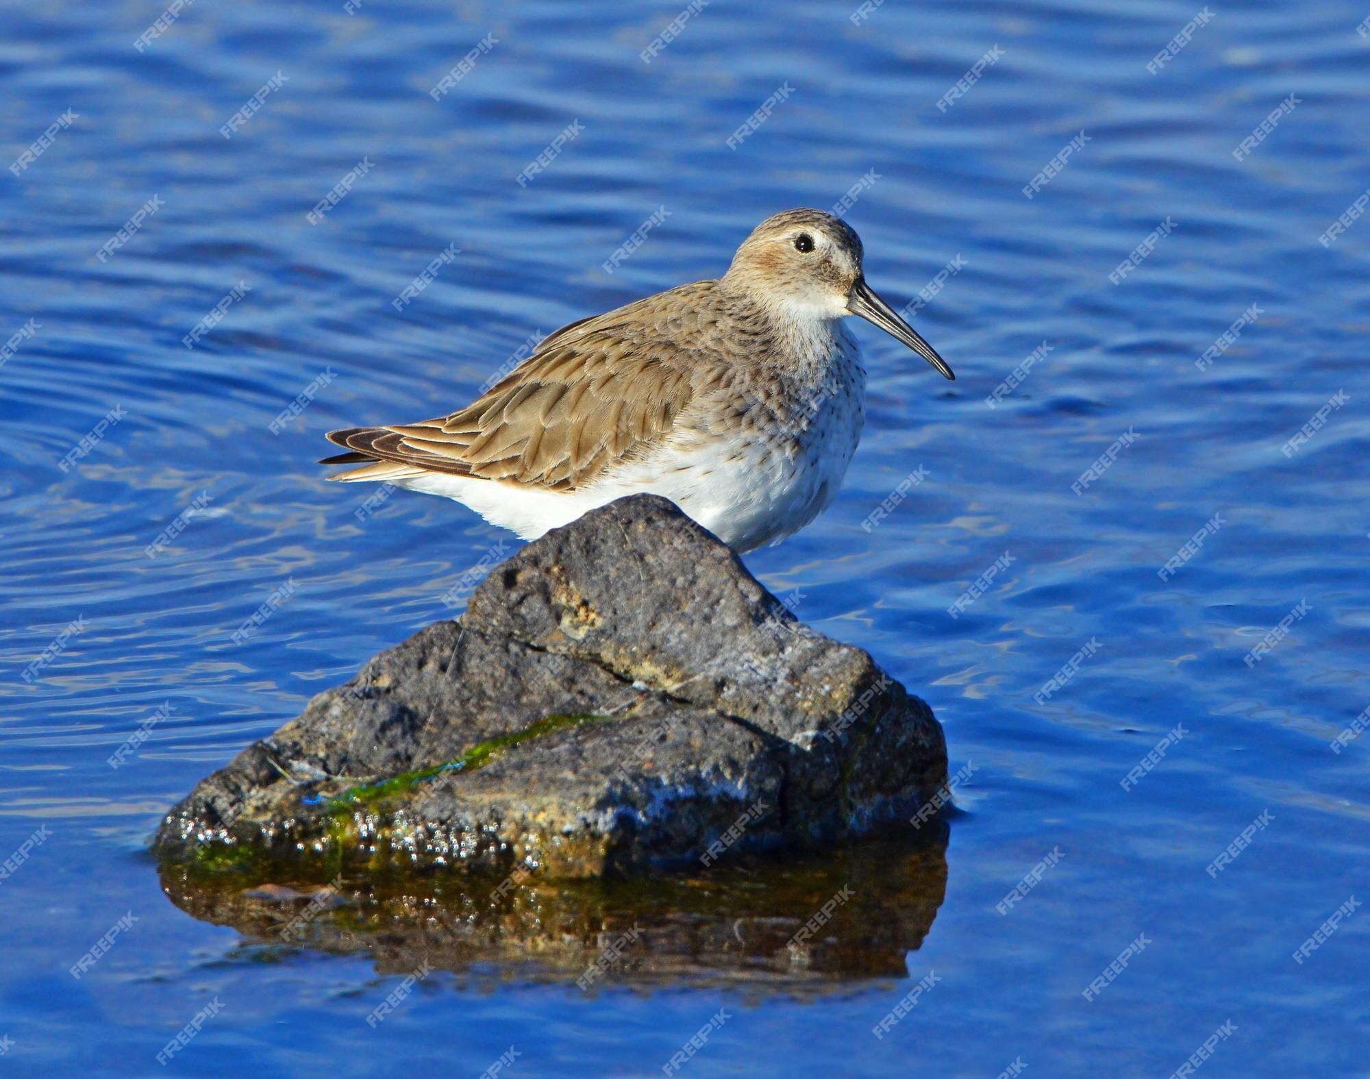
[[838, 340], [845, 353], [838, 367], [849, 392], [826, 396], [797, 440], [669, 441], [653, 456], [571, 493], [441, 472], [377, 478], [453, 498], [523, 540], [536, 540], [615, 498], [651, 493], [675, 503], [734, 550], [775, 544], [833, 501], [860, 437], [864, 372], [855, 342], [845, 335]]

